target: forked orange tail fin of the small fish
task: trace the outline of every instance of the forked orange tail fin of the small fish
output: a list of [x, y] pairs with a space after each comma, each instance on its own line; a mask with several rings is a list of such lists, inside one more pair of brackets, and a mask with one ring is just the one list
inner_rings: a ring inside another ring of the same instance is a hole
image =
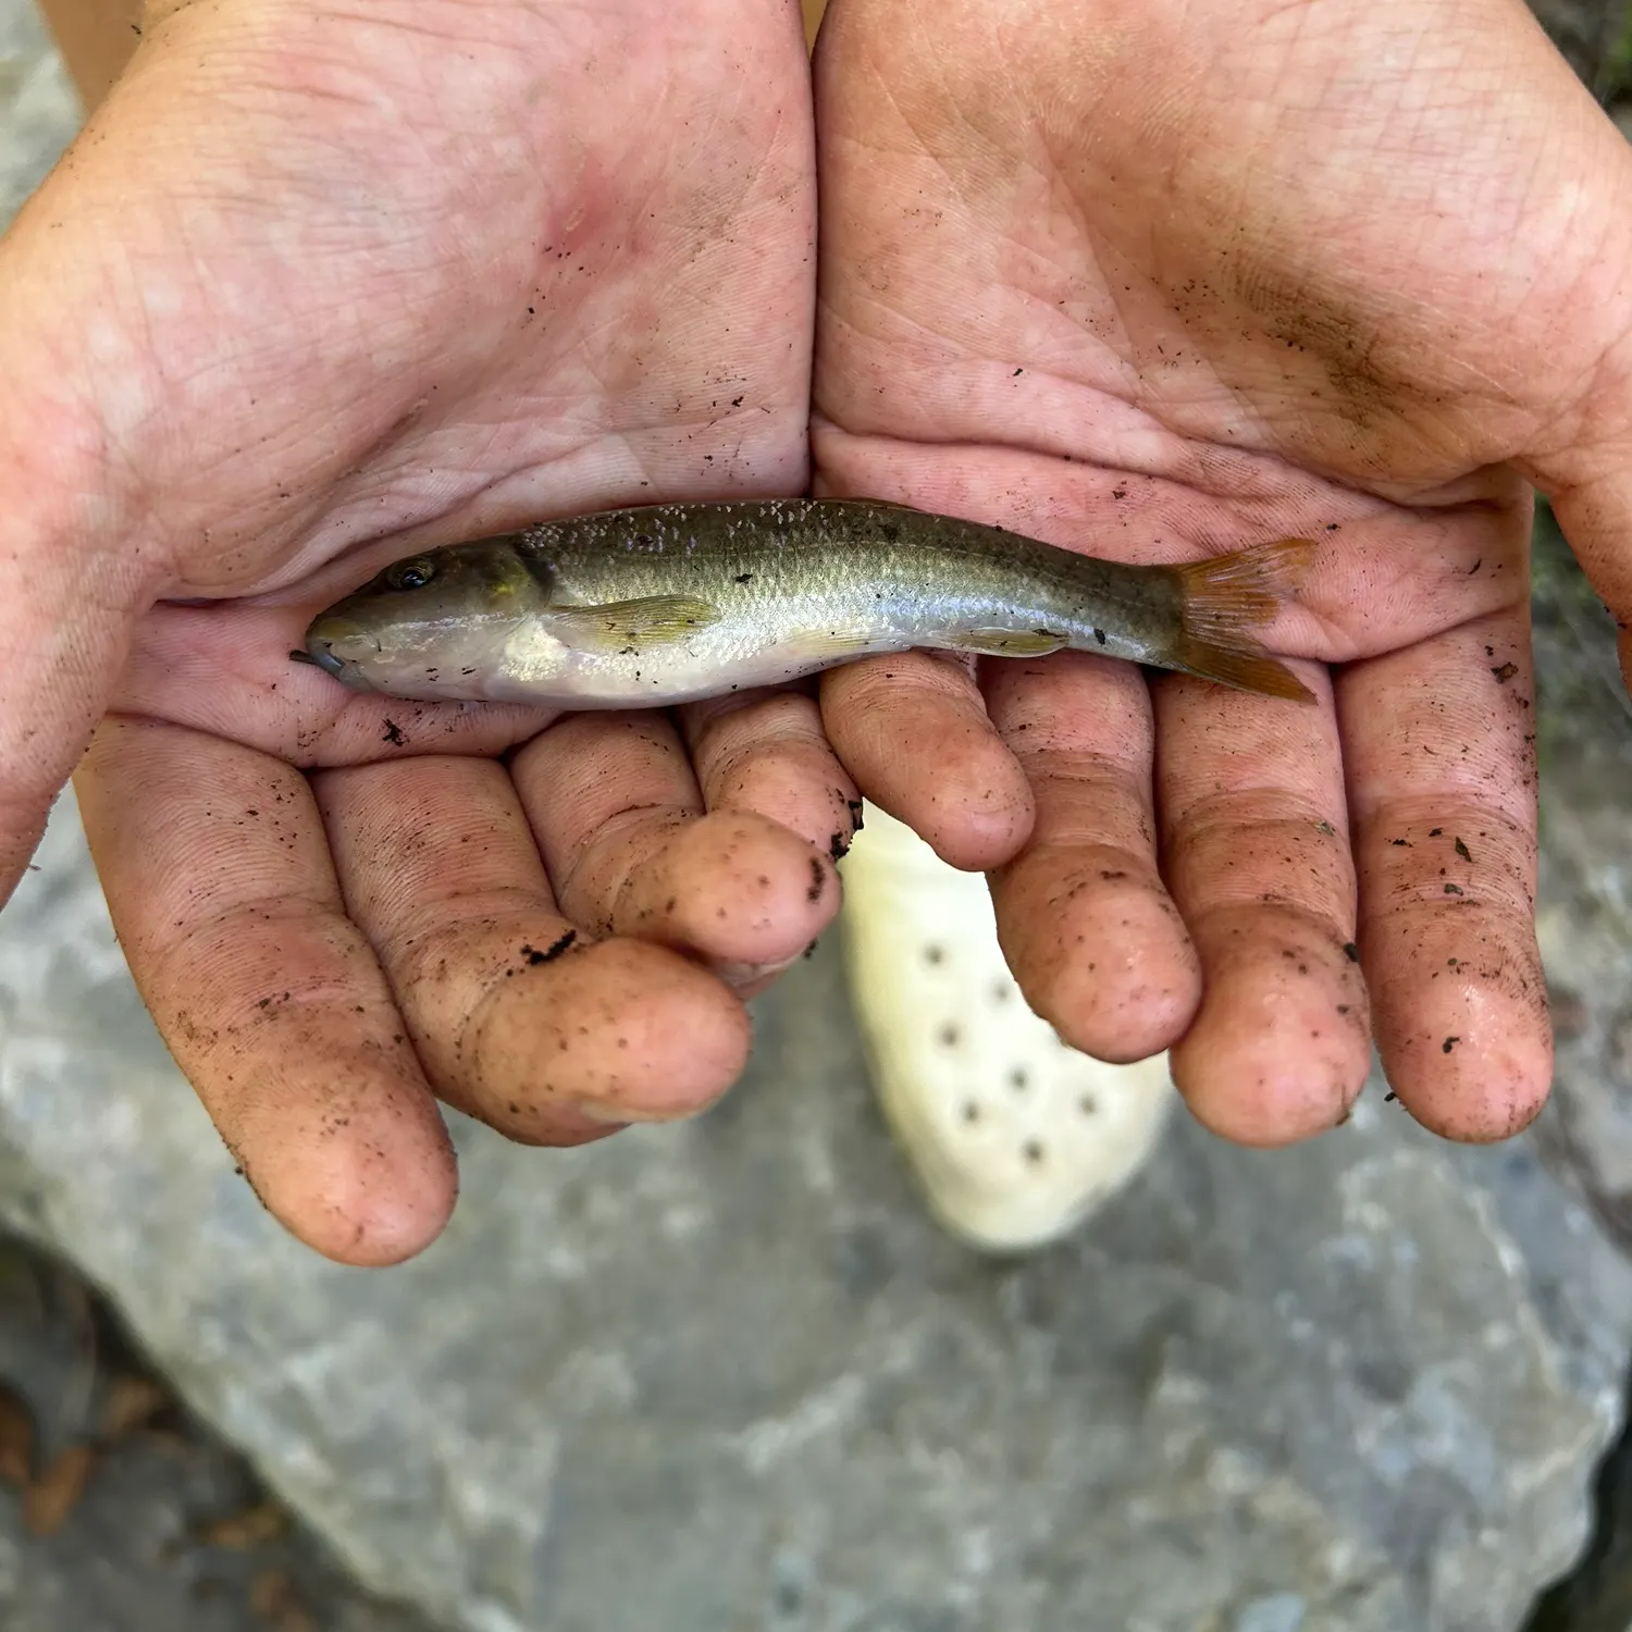
[[1244, 692], [1314, 702], [1314, 692], [1250, 632], [1297, 589], [1315, 548], [1312, 539], [1278, 539], [1175, 568], [1185, 604], [1172, 667]]

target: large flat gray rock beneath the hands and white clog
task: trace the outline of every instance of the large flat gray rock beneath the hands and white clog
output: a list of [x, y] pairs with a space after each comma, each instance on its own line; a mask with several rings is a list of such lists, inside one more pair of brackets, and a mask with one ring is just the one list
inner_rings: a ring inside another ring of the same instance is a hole
[[129, 984], [70, 808], [0, 917], [0, 1206], [370, 1586], [470, 1632], [1492, 1632], [1586, 1532], [1632, 1273], [1526, 1142], [1373, 1092], [1180, 1124], [1017, 1265], [920, 1216], [842, 971], [684, 1128], [534, 1152], [390, 1271], [266, 1219]]

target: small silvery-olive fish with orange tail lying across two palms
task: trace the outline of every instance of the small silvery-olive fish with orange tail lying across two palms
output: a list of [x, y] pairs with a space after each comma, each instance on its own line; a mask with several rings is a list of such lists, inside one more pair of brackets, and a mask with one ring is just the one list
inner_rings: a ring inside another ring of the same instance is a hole
[[695, 702], [912, 646], [1071, 648], [1307, 702], [1252, 630], [1314, 548], [1124, 566], [873, 499], [653, 504], [395, 561], [290, 656], [362, 692], [578, 710]]

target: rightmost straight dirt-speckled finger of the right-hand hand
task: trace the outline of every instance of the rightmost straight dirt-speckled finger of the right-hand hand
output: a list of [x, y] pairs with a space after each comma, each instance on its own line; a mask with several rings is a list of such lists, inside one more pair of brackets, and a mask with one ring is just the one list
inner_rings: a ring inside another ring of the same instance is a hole
[[1436, 1133], [1503, 1139], [1552, 1082], [1529, 607], [1353, 664], [1337, 695], [1384, 1069]]

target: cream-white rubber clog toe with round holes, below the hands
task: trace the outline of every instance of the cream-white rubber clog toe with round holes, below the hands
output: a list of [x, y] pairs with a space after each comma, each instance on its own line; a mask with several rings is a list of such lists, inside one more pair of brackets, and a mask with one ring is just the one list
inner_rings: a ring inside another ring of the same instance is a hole
[[1069, 1234], [1154, 1151], [1167, 1056], [1106, 1066], [1062, 1043], [1004, 963], [984, 876], [871, 805], [842, 873], [873, 1085], [930, 1211], [986, 1252]]

